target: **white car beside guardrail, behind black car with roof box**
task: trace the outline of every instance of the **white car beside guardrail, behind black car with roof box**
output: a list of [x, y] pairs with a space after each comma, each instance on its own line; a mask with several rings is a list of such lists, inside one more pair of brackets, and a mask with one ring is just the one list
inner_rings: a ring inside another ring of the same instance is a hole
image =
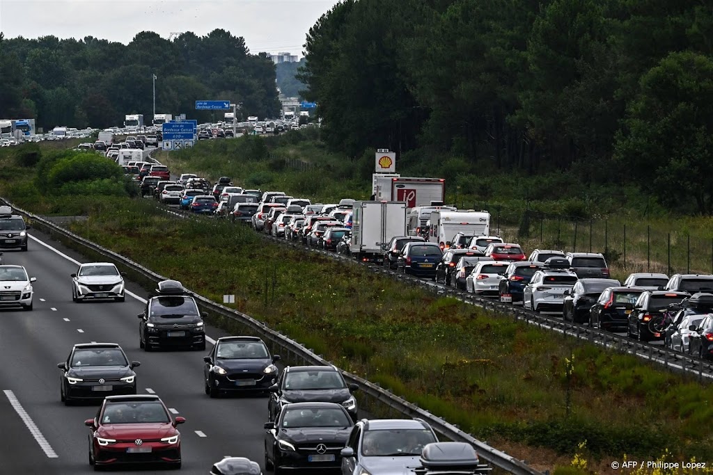
[[124, 273], [111, 262], [89, 262], [79, 266], [72, 277], [72, 301], [113, 298], [124, 301]]

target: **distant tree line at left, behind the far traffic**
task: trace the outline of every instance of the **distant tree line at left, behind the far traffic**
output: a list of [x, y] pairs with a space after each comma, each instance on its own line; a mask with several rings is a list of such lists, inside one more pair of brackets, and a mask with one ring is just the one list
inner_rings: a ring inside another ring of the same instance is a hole
[[154, 74], [156, 113], [211, 120], [211, 112], [195, 110], [195, 101], [222, 99], [242, 103], [246, 116], [279, 113], [269, 56], [250, 54], [243, 38], [216, 29], [173, 41], [143, 31], [128, 45], [92, 36], [0, 37], [0, 115], [36, 118], [45, 130], [121, 125], [126, 114], [150, 122]]

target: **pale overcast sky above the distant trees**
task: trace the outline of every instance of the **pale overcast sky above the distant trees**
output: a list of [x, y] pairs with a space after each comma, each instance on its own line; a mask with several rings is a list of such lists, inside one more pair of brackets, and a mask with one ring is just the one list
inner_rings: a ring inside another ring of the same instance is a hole
[[6, 38], [81, 39], [127, 44], [140, 31], [215, 28], [245, 38], [251, 53], [289, 51], [302, 56], [307, 31], [337, 0], [0, 0], [0, 31]]

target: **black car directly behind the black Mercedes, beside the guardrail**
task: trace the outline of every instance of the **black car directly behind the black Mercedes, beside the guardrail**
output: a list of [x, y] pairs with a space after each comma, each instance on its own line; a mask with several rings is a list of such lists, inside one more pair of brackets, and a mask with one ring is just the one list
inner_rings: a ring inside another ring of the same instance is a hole
[[267, 413], [274, 421], [284, 404], [293, 402], [336, 402], [356, 420], [356, 398], [352, 392], [359, 385], [347, 385], [335, 366], [288, 366], [270, 386]]

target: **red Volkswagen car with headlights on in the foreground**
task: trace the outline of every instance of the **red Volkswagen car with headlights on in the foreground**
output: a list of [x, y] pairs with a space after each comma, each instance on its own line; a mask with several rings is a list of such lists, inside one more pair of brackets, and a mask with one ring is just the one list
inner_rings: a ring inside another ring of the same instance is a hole
[[118, 464], [166, 464], [180, 469], [180, 432], [184, 417], [171, 418], [156, 395], [108, 396], [89, 427], [89, 464], [95, 469]]

